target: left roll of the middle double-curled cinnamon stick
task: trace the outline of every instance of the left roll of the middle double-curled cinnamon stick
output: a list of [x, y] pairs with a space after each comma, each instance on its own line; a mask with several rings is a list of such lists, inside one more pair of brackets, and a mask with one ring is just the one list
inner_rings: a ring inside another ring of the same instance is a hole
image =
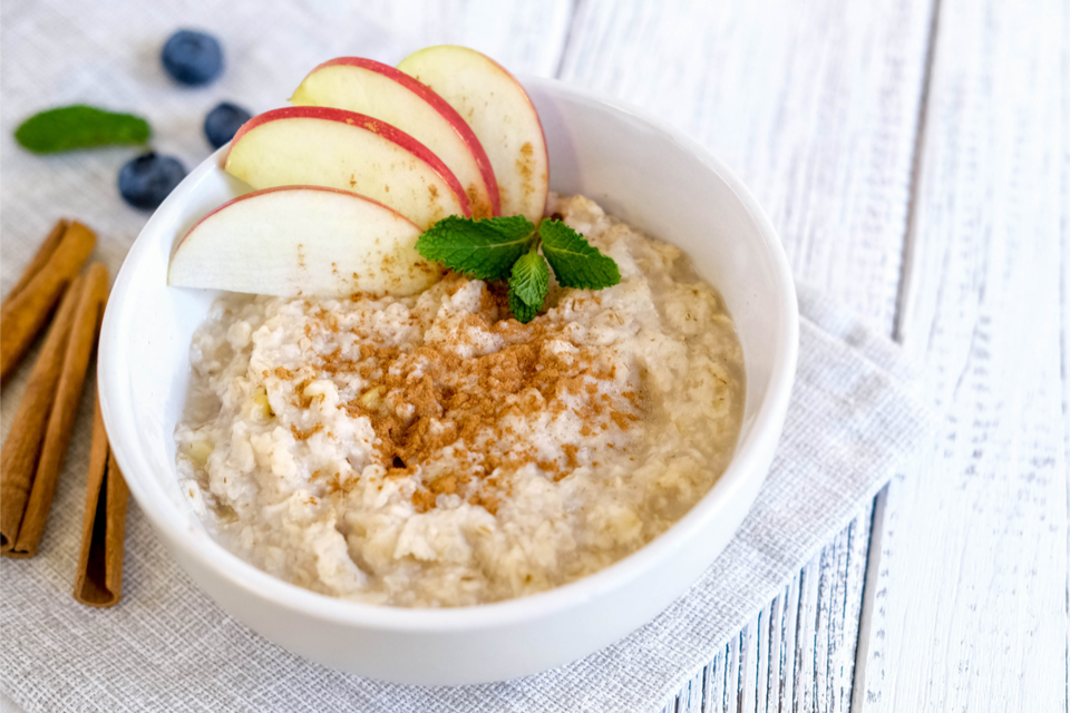
[[64, 295], [0, 450], [0, 554], [11, 550], [22, 525], [84, 281], [78, 277]]

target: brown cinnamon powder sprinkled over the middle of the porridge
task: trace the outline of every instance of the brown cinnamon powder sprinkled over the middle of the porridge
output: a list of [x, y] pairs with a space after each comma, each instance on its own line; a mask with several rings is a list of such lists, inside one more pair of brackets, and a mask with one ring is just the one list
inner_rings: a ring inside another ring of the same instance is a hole
[[[447, 280], [450, 295], [468, 284], [459, 276]], [[634, 387], [620, 392], [615, 367], [603, 363], [604, 349], [575, 343], [565, 324], [548, 315], [521, 324], [510, 318], [504, 291], [485, 287], [476, 312], [446, 320], [438, 319], [434, 336], [427, 332], [422, 343], [403, 348], [383, 344], [382, 336], [358, 322], [350, 330], [352, 348], [343, 350], [333, 338], [341, 331], [338, 315], [322, 305], [310, 310], [311, 326], [305, 328], [310, 339], [321, 333], [335, 344], [310, 364], [314, 378], [360, 378], [357, 395], [344, 397], [339, 408], [370, 421], [376, 433], [371, 462], [381, 465], [387, 478], [419, 476], [422, 485], [411, 495], [418, 511], [435, 508], [439, 496], [456, 496], [495, 515], [510, 492], [508, 475], [519, 468], [534, 465], [558, 481], [584, 465], [596, 466], [584, 461], [590, 456], [582, 453], [588, 451], [577, 443], [562, 443], [563, 455], [547, 458], [524, 442], [514, 428], [518, 421], [534, 426], [545, 416], [571, 413], [580, 420], [578, 436], [588, 438], [611, 424], [628, 431], [640, 420], [641, 400]], [[494, 339], [502, 346], [487, 352]], [[296, 378], [281, 367], [273, 373]], [[304, 395], [312, 380], [293, 388], [292, 402], [302, 409], [313, 402]], [[322, 428], [290, 426], [299, 441]], [[313, 477], [328, 479], [329, 492], [342, 489], [338, 473]]]

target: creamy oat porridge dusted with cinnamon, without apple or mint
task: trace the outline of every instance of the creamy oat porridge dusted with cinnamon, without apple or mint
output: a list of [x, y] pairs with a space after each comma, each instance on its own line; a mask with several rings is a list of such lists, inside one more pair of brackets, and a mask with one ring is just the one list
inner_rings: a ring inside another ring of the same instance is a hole
[[593, 202], [551, 208], [622, 280], [552, 282], [526, 325], [459, 276], [212, 307], [175, 438], [183, 491], [226, 547], [314, 592], [463, 606], [597, 572], [709, 491], [743, 404], [720, 297]]

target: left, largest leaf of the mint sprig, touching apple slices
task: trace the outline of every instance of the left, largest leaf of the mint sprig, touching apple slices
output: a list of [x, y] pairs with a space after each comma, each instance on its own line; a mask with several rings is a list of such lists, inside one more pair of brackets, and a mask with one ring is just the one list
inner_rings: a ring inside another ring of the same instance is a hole
[[451, 215], [428, 228], [416, 250], [479, 280], [505, 280], [534, 240], [535, 226], [523, 215], [480, 221]]

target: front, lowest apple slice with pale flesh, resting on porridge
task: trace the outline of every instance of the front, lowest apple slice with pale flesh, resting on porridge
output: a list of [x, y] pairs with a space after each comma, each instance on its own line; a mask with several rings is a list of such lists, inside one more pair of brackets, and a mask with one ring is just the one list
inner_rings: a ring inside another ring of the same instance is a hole
[[256, 191], [186, 233], [167, 284], [296, 296], [415, 294], [438, 280], [414, 245], [415, 223], [356, 193], [319, 186]]

